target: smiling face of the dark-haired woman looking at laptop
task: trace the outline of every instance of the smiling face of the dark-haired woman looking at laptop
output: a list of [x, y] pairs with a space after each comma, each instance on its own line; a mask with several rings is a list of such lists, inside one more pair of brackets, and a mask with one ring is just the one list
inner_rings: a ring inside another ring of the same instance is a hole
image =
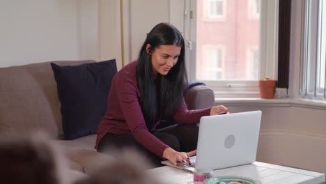
[[[148, 52], [150, 45], [146, 45]], [[150, 54], [150, 62], [152, 62], [153, 76], [156, 78], [157, 73], [167, 75], [171, 68], [178, 62], [181, 47], [177, 45], [160, 45]]]

